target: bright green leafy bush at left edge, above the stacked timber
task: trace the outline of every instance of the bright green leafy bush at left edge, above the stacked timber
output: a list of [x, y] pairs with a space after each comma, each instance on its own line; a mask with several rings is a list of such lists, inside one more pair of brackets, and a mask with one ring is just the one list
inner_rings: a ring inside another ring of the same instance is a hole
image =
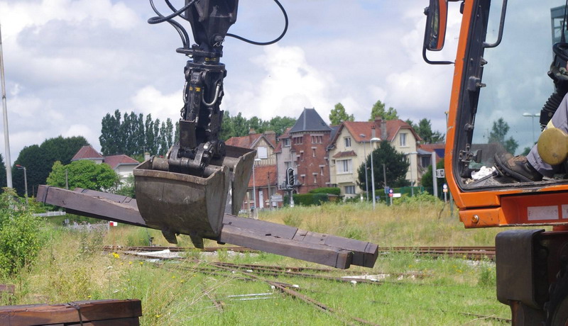
[[13, 189], [0, 195], [0, 274], [11, 276], [29, 266], [43, 245], [41, 218], [15, 200]]

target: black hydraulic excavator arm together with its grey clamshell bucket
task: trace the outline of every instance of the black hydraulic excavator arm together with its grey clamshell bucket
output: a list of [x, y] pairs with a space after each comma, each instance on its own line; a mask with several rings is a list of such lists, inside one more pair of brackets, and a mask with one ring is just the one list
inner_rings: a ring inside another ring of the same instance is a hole
[[[227, 31], [236, 21], [238, 2], [186, 0], [184, 8], [175, 12], [190, 22], [197, 43], [191, 47], [184, 43], [177, 50], [191, 57], [184, 69], [179, 142], [166, 157], [153, 157], [133, 172], [138, 210], [168, 242], [177, 243], [175, 235], [180, 233], [190, 235], [200, 248], [204, 237], [217, 240], [229, 189], [232, 212], [238, 212], [246, 193], [254, 151], [227, 147], [219, 139], [226, 76], [219, 59]], [[154, 21], [170, 22], [161, 18]]]

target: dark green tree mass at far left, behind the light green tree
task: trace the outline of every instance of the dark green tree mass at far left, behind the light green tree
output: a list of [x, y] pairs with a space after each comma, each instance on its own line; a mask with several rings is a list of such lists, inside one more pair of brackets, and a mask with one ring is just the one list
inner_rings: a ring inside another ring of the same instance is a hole
[[18, 169], [16, 165], [26, 167], [28, 192], [33, 196], [38, 185], [45, 184], [55, 161], [69, 164], [72, 157], [85, 145], [89, 145], [89, 142], [82, 136], [58, 136], [44, 140], [41, 145], [23, 147], [12, 167], [13, 187], [23, 196], [26, 189], [23, 170]]

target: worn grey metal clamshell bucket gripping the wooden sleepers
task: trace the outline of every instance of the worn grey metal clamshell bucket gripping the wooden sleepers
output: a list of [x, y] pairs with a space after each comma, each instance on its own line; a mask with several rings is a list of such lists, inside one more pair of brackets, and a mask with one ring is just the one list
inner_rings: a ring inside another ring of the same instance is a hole
[[218, 239], [231, 189], [231, 211], [238, 212], [252, 171], [254, 150], [227, 146], [223, 159], [212, 161], [206, 176], [168, 171], [166, 159], [153, 157], [133, 171], [136, 203], [149, 227], [162, 230], [165, 239], [190, 235], [193, 245], [203, 238]]

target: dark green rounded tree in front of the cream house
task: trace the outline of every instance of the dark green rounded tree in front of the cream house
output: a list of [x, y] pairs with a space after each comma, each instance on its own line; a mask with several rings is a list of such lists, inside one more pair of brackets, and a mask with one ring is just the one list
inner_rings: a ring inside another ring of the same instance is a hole
[[[381, 189], [385, 186], [408, 186], [410, 184], [410, 182], [405, 179], [410, 163], [406, 160], [405, 155], [397, 152], [395, 147], [393, 147], [388, 140], [379, 142], [379, 146], [376, 150], [368, 154], [366, 157], [368, 169], [371, 169], [371, 155], [373, 155], [373, 170], [369, 171], [374, 174], [375, 189]], [[383, 164], [385, 166], [386, 184], [383, 177]], [[365, 163], [361, 164], [359, 169], [357, 169], [357, 179], [359, 188], [366, 189]], [[371, 180], [371, 174], [368, 174], [368, 189], [372, 189]]]

